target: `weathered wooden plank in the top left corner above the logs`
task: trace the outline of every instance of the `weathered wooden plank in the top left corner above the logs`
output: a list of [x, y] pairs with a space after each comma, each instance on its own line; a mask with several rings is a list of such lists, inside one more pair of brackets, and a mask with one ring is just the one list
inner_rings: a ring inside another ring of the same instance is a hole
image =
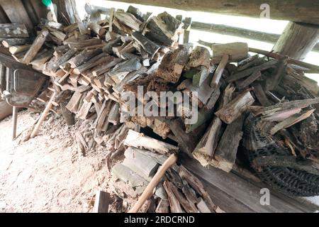
[[29, 31], [33, 29], [33, 23], [21, 0], [2, 0], [0, 4], [11, 23], [24, 23]]

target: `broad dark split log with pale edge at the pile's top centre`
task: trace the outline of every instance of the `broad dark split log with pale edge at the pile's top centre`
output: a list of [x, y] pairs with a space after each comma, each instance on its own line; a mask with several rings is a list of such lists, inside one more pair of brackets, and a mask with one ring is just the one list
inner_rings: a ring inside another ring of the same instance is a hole
[[177, 42], [179, 33], [182, 33], [181, 27], [181, 21], [163, 12], [150, 18], [143, 32], [155, 43], [172, 46]]

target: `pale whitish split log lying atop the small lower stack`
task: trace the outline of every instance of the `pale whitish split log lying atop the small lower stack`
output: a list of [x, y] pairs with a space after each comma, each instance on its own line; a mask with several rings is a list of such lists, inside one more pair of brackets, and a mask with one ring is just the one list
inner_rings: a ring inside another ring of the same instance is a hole
[[178, 148], [174, 145], [164, 143], [132, 130], [128, 131], [124, 144], [135, 148], [152, 150], [162, 155], [177, 153], [178, 151]]

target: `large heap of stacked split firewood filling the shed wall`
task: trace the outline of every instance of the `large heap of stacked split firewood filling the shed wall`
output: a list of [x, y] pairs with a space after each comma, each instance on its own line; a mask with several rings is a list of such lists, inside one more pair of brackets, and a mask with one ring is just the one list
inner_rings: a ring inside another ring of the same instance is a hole
[[[303, 74], [318, 72], [318, 66], [248, 48], [246, 43], [211, 44], [211, 55], [210, 48], [178, 45], [182, 25], [166, 12], [157, 16], [142, 15], [130, 6], [128, 11], [111, 10], [102, 21], [78, 21], [69, 26], [43, 21], [33, 42], [24, 33], [13, 36], [15, 38], [1, 37], [5, 38], [2, 44], [17, 61], [52, 78], [52, 87], [47, 90], [50, 94], [43, 96], [50, 96], [50, 101], [55, 96], [63, 97], [56, 105], [61, 106], [68, 123], [72, 124], [74, 114], [91, 122], [96, 133], [109, 135], [109, 148], [115, 153], [123, 153], [126, 145], [134, 147], [125, 150], [128, 159], [125, 163], [132, 162], [130, 155], [135, 148], [147, 146], [123, 143], [129, 129], [138, 131], [140, 127], [149, 127], [162, 140], [174, 140], [180, 150], [204, 166], [230, 172], [244, 136], [247, 150], [258, 150], [276, 141], [286, 151], [280, 163], [252, 160], [256, 171], [265, 166], [291, 166], [287, 163], [294, 163], [293, 167], [300, 169], [298, 162], [302, 160], [308, 168], [303, 167], [301, 171], [310, 170], [311, 174], [318, 175], [319, 117], [315, 108], [319, 103], [319, 88]], [[249, 55], [249, 52], [257, 54]], [[189, 92], [192, 100], [196, 100], [198, 121], [184, 123], [192, 117], [190, 109], [176, 109], [166, 117], [128, 115], [121, 94], [133, 92], [139, 99], [138, 87], [143, 88], [143, 94], [156, 92], [159, 96], [160, 92]], [[259, 118], [257, 129], [261, 135], [255, 137], [272, 140], [256, 144], [252, 141], [254, 136], [244, 135], [248, 112]], [[173, 150], [177, 152], [177, 148]], [[156, 163], [151, 163], [154, 164], [152, 170], [142, 173], [145, 177], [154, 171]], [[118, 164], [113, 171], [119, 178], [125, 172], [124, 166]], [[177, 177], [179, 172], [183, 179], [181, 170], [184, 169], [174, 170], [174, 174], [171, 170], [171, 177]], [[163, 183], [167, 194], [174, 192], [174, 187], [184, 189], [167, 179]], [[135, 179], [132, 180], [135, 185]], [[183, 180], [181, 183], [184, 185]], [[205, 201], [203, 195], [202, 199]], [[183, 201], [179, 202], [183, 206]], [[210, 211], [215, 210], [207, 202], [206, 205]], [[183, 206], [183, 209], [186, 208]]]

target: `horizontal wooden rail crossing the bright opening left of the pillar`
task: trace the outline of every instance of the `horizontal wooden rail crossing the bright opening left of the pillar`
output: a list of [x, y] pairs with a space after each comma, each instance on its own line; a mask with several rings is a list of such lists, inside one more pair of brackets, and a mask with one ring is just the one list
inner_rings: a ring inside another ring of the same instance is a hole
[[[237, 28], [233, 26], [225, 26], [223, 24], [202, 23], [193, 21], [191, 29], [196, 31], [206, 31], [210, 33], [217, 33], [222, 35], [233, 35], [241, 38], [249, 38], [251, 40], [258, 40], [266, 43], [275, 44], [279, 40], [280, 35], [274, 33], [263, 33], [245, 28]], [[319, 52], [319, 43], [313, 47], [313, 51]]]

